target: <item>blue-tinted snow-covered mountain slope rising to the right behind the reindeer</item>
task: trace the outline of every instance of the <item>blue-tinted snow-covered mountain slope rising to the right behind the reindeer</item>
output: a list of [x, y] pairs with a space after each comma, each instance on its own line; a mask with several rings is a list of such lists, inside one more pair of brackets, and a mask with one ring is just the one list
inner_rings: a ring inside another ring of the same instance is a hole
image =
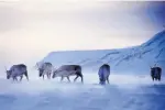
[[128, 48], [62, 51], [51, 52], [40, 63], [51, 62], [55, 67], [64, 64], [79, 64], [82, 69], [98, 70], [103, 63], [118, 73], [148, 74], [150, 66], [165, 68], [165, 30], [155, 34], [150, 41]]

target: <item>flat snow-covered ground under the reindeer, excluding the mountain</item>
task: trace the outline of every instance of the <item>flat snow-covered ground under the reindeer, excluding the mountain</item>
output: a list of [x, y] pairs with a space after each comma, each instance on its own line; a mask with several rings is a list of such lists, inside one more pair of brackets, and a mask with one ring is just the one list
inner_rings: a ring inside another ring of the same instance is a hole
[[111, 75], [106, 86], [96, 74], [85, 74], [84, 84], [0, 79], [0, 110], [165, 110], [164, 102], [165, 82], [145, 75]]

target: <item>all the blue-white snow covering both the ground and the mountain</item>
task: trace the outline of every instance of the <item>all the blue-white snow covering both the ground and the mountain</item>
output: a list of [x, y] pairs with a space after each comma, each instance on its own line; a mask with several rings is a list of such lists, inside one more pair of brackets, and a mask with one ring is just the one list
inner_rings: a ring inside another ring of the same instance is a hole
[[[0, 77], [0, 110], [164, 110], [165, 77], [153, 81], [150, 66], [165, 68], [165, 31], [139, 46], [102, 50], [51, 52], [42, 62], [55, 68], [64, 64], [82, 66], [84, 84], [59, 78], [38, 78], [29, 69], [30, 81]], [[103, 63], [111, 66], [110, 85], [98, 85], [97, 70]]]

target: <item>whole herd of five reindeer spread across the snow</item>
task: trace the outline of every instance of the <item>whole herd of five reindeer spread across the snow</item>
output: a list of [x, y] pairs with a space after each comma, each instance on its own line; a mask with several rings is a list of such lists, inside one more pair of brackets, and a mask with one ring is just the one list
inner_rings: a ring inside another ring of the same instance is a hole
[[[74, 79], [74, 82], [77, 80], [78, 77], [80, 77], [81, 82], [84, 82], [84, 75], [81, 73], [81, 66], [80, 65], [62, 65], [59, 68], [55, 69], [54, 66], [51, 63], [43, 63], [41, 65], [37, 65], [38, 70], [38, 77], [45, 78], [47, 76], [47, 79], [61, 77], [61, 81], [66, 77], [67, 80], [70, 82], [69, 77], [76, 76]], [[13, 80], [18, 81], [18, 77], [20, 77], [20, 81], [22, 80], [23, 76], [26, 77], [26, 80], [29, 80], [28, 75], [28, 67], [24, 64], [18, 64], [10, 67], [9, 70], [7, 70], [7, 79], [12, 78]], [[105, 85], [106, 81], [109, 84], [109, 76], [110, 76], [110, 65], [103, 64], [99, 67], [98, 70], [99, 76], [99, 84]], [[154, 80], [161, 81], [162, 76], [162, 68], [151, 67], [151, 77]]]

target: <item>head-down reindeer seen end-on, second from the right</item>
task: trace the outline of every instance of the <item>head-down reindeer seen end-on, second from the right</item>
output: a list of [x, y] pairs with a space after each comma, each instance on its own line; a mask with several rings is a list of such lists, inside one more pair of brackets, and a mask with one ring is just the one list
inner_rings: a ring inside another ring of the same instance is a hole
[[105, 85], [106, 80], [109, 84], [110, 66], [108, 64], [103, 64], [99, 68], [98, 75], [99, 75], [99, 80], [100, 80], [99, 84]]

